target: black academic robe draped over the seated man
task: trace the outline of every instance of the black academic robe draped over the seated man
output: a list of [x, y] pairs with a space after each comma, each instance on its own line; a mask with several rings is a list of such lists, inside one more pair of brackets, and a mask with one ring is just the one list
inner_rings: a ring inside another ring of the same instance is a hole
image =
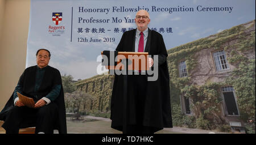
[[[43, 81], [37, 92], [34, 92], [36, 79], [36, 66], [28, 67], [24, 70], [23, 74], [19, 78], [19, 82], [23, 84], [22, 94], [28, 97], [37, 96], [38, 100], [45, 97], [53, 88], [53, 86], [61, 84], [59, 96], [53, 101], [58, 106], [58, 117], [55, 121], [54, 129], [59, 130], [59, 133], [67, 133], [65, 103], [64, 103], [64, 92], [61, 82], [61, 75], [59, 70], [46, 66], [44, 72]], [[5, 121], [6, 116], [11, 108], [14, 106], [14, 97], [11, 95], [7, 101], [5, 107], [0, 113], [0, 120]], [[34, 125], [28, 124], [26, 121], [21, 125], [23, 127], [32, 127]]]

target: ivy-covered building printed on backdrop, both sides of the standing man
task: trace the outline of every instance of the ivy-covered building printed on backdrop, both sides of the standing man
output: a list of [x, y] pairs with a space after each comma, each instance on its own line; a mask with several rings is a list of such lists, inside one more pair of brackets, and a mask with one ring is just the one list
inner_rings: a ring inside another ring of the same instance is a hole
[[[174, 126], [255, 134], [255, 20], [167, 49]], [[71, 118], [110, 118], [113, 75], [62, 79]]]

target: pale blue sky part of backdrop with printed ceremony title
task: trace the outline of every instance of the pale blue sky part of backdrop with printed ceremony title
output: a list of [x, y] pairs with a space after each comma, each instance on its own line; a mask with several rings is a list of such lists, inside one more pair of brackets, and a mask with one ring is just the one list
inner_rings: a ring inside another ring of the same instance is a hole
[[167, 49], [255, 19], [254, 0], [31, 0], [26, 67], [36, 65], [36, 50], [46, 48], [49, 65], [61, 75], [75, 80], [97, 75], [97, 57], [136, 28], [141, 9], [149, 12], [149, 28], [163, 35]]

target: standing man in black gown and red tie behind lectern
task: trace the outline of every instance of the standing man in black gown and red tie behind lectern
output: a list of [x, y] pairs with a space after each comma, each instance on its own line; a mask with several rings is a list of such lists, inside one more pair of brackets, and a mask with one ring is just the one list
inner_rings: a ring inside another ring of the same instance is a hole
[[[151, 56], [158, 56], [158, 59], [148, 58], [151, 69], [157, 69], [158, 78], [149, 81], [148, 73], [145, 75], [136, 70], [133, 71], [133, 75], [127, 75], [127, 79], [124, 79], [125, 75], [115, 74], [111, 100], [111, 127], [123, 133], [155, 133], [163, 127], [172, 127], [170, 78], [166, 61], [168, 54], [162, 35], [148, 28], [150, 16], [147, 11], [138, 11], [135, 23], [137, 29], [123, 33], [116, 50], [148, 52]], [[155, 65], [158, 67], [154, 68]], [[124, 83], [127, 85], [125, 95]], [[126, 101], [123, 101], [124, 99]]]

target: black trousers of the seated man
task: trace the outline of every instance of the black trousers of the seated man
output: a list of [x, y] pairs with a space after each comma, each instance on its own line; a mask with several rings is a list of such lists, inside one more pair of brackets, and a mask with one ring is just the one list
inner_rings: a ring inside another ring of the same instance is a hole
[[8, 113], [2, 127], [7, 134], [18, 134], [20, 128], [35, 126], [35, 133], [53, 133], [53, 123], [57, 119], [57, 105], [50, 103], [41, 108], [14, 106]]

